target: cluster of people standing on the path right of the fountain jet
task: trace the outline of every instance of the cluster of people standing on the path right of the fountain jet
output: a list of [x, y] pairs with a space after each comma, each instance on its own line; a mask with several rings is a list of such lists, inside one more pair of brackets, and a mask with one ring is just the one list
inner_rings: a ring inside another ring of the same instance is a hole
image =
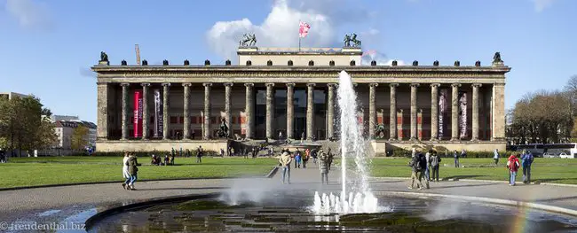
[[429, 182], [439, 182], [441, 158], [437, 154], [437, 151], [430, 150], [423, 155], [422, 152], [413, 149], [411, 156], [411, 161], [408, 163], [408, 166], [412, 169], [411, 185], [408, 186], [409, 189], [429, 189]]

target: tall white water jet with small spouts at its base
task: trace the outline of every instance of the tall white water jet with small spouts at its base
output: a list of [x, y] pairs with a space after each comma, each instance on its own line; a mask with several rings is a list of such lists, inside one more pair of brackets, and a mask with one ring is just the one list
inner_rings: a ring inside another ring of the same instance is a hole
[[[378, 201], [368, 188], [368, 150], [367, 142], [362, 136], [363, 125], [357, 120], [357, 94], [352, 88], [351, 76], [344, 71], [339, 74], [336, 96], [340, 109], [341, 195], [336, 197], [332, 193], [323, 193], [320, 196], [318, 192], [315, 192], [312, 210], [316, 214], [375, 213], [378, 210]], [[351, 190], [347, 190], [347, 159], [349, 157], [353, 159], [355, 173], [360, 178], [358, 183], [353, 183]]]

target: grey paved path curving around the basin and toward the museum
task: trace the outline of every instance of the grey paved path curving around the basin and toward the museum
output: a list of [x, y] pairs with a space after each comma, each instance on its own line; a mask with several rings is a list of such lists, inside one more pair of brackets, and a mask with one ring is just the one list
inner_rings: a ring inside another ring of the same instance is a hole
[[[407, 172], [409, 172], [407, 170]], [[341, 171], [329, 173], [329, 185], [320, 184], [318, 167], [291, 169], [291, 184], [281, 183], [281, 171], [272, 179], [212, 179], [137, 183], [138, 190], [123, 190], [120, 183], [62, 186], [28, 190], [0, 191], [0, 221], [61, 221], [79, 211], [102, 211], [109, 206], [186, 194], [211, 193], [225, 190], [315, 190], [339, 192]], [[526, 185], [511, 187], [506, 182], [458, 181], [431, 183], [430, 190], [408, 190], [407, 179], [372, 178], [375, 191], [411, 191], [484, 198], [502, 198], [536, 202], [577, 210], [577, 187]], [[59, 214], [46, 212], [56, 210]]]

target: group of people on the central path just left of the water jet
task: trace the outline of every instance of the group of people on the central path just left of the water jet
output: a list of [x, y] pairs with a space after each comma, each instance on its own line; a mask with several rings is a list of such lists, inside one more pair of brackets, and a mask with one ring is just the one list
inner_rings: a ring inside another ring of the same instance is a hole
[[333, 154], [330, 152], [330, 148], [328, 148], [327, 152], [316, 149], [306, 149], [305, 151], [296, 149], [294, 153], [288, 151], [288, 149], [282, 149], [281, 158], [279, 158], [282, 183], [290, 183], [290, 167], [293, 160], [295, 161], [295, 168], [300, 168], [301, 164], [303, 168], [306, 168], [309, 158], [313, 159], [314, 164], [319, 164], [320, 182], [328, 184], [328, 171], [333, 162]]

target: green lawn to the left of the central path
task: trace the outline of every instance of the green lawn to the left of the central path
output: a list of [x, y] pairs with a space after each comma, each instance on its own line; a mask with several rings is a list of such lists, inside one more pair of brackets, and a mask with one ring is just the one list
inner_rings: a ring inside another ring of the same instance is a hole
[[[123, 181], [121, 157], [11, 158], [0, 164], [0, 189], [48, 184]], [[276, 159], [176, 158], [176, 166], [149, 166], [139, 158], [139, 180], [181, 178], [227, 178], [263, 176], [277, 164]]]

